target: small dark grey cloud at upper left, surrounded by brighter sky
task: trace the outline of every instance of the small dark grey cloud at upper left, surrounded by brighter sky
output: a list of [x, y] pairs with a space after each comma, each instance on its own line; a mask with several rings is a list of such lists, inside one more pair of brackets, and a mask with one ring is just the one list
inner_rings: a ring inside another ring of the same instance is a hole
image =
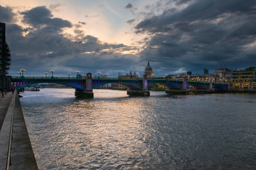
[[51, 25], [58, 28], [72, 27], [71, 22], [62, 20], [61, 18], [52, 18], [53, 15], [47, 7], [35, 7], [31, 10], [21, 12], [23, 22], [31, 24], [34, 27], [42, 25]]

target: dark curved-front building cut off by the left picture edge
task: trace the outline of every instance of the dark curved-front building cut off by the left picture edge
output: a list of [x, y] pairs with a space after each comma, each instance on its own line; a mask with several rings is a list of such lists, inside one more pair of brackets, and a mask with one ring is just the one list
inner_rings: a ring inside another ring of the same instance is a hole
[[9, 74], [11, 52], [5, 40], [5, 23], [0, 22], [0, 74]]

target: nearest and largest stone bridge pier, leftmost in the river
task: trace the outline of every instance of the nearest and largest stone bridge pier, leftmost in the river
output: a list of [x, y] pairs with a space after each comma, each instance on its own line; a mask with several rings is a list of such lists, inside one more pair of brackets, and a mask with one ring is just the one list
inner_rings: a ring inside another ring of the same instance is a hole
[[93, 79], [92, 74], [86, 74], [85, 90], [76, 89], [75, 96], [93, 98]]

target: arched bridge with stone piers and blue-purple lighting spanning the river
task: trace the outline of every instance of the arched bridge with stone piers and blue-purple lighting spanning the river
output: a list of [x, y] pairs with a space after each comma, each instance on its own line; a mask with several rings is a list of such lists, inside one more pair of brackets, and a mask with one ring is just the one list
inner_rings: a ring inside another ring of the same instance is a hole
[[[188, 93], [187, 89], [193, 89], [194, 92], [214, 92], [215, 90], [228, 89], [228, 85], [224, 83], [214, 83], [212, 81], [187, 81], [187, 77], [183, 80], [170, 78], [148, 78], [143, 75], [142, 78], [93, 78], [91, 73], [87, 73], [85, 77], [12, 77], [13, 88], [20, 89], [37, 83], [57, 83], [70, 86], [75, 91], [75, 96], [93, 97], [93, 89], [104, 84], [116, 83], [127, 87], [128, 95], [145, 95], [149, 96], [151, 87], [155, 84], [162, 84], [167, 87], [166, 93]], [[190, 90], [191, 91], [191, 90]]]

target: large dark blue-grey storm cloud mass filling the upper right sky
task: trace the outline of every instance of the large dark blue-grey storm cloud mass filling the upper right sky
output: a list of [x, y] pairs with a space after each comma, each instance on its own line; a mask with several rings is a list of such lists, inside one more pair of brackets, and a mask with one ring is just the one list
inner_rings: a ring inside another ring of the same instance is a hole
[[256, 57], [250, 47], [256, 42], [256, 2], [176, 1], [184, 3], [188, 4], [183, 9], [165, 9], [135, 26], [137, 33], [150, 35], [142, 59], [161, 60], [168, 73], [181, 67], [199, 73], [207, 67], [213, 72], [219, 67], [216, 57], [229, 68], [248, 67]]

